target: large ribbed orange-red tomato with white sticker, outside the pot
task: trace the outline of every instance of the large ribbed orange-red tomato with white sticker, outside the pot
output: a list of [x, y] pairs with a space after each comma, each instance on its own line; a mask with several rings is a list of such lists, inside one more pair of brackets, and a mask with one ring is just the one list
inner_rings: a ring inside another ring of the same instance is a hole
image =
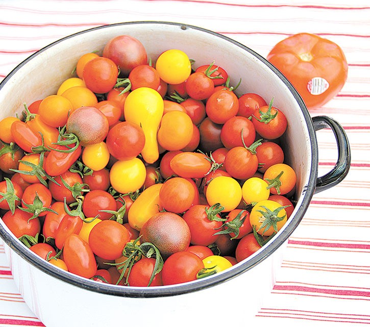
[[292, 35], [267, 55], [297, 89], [308, 109], [321, 107], [347, 80], [348, 64], [336, 43], [309, 33]]

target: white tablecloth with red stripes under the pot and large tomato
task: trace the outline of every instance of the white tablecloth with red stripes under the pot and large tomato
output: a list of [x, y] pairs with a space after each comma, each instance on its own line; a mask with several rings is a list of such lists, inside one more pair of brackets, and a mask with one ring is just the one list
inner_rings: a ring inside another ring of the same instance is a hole
[[[370, 3], [368, 0], [0, 0], [0, 79], [43, 46], [102, 24], [161, 20], [213, 30], [266, 56], [283, 38], [309, 32], [339, 44], [349, 63], [341, 92], [311, 115], [336, 119], [352, 163], [338, 186], [314, 195], [289, 238], [260, 325], [370, 323]], [[24, 78], [27, 78], [24, 77]], [[317, 132], [319, 175], [337, 158], [334, 136]], [[0, 241], [0, 326], [43, 326], [15, 288]], [[52, 326], [48, 326], [52, 327]]]

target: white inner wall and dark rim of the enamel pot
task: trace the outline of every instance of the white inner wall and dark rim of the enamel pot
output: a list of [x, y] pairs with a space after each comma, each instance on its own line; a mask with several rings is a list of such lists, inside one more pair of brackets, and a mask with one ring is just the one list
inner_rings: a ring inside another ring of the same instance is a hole
[[70, 78], [77, 60], [85, 53], [102, 53], [104, 45], [118, 35], [139, 39], [149, 58], [157, 58], [170, 48], [184, 51], [194, 59], [194, 67], [215, 63], [225, 68], [236, 85], [239, 95], [260, 94], [268, 103], [274, 97], [274, 106], [287, 117], [284, 136], [286, 163], [297, 172], [297, 205], [284, 228], [273, 240], [250, 258], [233, 268], [199, 281], [170, 287], [133, 288], [96, 283], [46, 263], [24, 247], [0, 220], [0, 234], [19, 256], [55, 278], [94, 292], [125, 297], [157, 297], [189, 293], [235, 278], [253, 269], [281, 246], [302, 219], [315, 190], [317, 178], [317, 144], [312, 120], [303, 100], [284, 76], [250, 48], [217, 33], [198, 27], [169, 22], [128, 22], [98, 27], [73, 34], [46, 46], [18, 65], [0, 85], [0, 118], [20, 113], [23, 103], [56, 94], [59, 85]]

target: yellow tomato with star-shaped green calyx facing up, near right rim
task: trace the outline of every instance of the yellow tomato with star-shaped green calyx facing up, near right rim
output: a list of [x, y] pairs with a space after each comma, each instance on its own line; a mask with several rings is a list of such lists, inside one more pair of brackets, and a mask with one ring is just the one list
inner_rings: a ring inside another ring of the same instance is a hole
[[251, 211], [249, 221], [256, 227], [260, 235], [270, 236], [277, 233], [284, 226], [287, 215], [284, 207], [273, 201], [263, 200], [258, 202]]

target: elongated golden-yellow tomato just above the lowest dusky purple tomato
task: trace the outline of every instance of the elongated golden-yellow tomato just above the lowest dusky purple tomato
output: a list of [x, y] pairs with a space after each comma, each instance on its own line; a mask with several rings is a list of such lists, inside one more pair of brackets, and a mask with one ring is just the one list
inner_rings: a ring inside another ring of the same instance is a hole
[[142, 225], [153, 215], [159, 213], [159, 191], [161, 183], [153, 184], [143, 190], [130, 207], [128, 220], [135, 230], [140, 231]]

